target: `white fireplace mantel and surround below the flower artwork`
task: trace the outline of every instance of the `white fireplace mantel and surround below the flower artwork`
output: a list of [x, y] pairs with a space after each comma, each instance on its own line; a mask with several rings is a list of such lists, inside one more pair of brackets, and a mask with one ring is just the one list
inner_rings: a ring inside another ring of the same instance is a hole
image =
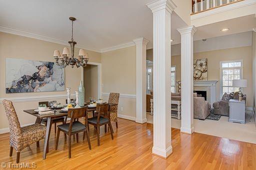
[[194, 90], [206, 91], [207, 92], [207, 101], [212, 104], [216, 101], [216, 83], [218, 80], [195, 80], [194, 81]]

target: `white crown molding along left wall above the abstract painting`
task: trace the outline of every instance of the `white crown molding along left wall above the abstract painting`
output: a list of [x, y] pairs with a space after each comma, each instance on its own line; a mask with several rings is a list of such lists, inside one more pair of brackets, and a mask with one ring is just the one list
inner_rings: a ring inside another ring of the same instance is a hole
[[[57, 39], [57, 38], [48, 37], [48, 36], [44, 36], [44, 35], [39, 35], [39, 34], [36, 34], [36, 33], [26, 32], [26, 31], [19, 30], [19, 29], [16, 29], [16, 28], [10, 28], [10, 27], [0, 25], [0, 32], [25, 36], [25, 37], [29, 37], [29, 38], [34, 38], [34, 39], [39, 39], [39, 40], [43, 40], [43, 41], [48, 41], [48, 42], [53, 42], [53, 43], [69, 46], [67, 41]], [[93, 47], [88, 47], [88, 46], [85, 46], [85, 45], [77, 44], [76, 47], [86, 49], [86, 50], [90, 50], [90, 51], [100, 52], [99, 49], [96, 49], [96, 48], [93, 48]]]

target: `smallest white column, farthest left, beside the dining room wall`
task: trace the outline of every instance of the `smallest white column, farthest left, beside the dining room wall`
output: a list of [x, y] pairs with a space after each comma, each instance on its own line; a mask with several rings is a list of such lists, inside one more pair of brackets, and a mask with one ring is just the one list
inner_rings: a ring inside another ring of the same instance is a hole
[[136, 123], [146, 122], [146, 44], [147, 39], [133, 39], [136, 44]]

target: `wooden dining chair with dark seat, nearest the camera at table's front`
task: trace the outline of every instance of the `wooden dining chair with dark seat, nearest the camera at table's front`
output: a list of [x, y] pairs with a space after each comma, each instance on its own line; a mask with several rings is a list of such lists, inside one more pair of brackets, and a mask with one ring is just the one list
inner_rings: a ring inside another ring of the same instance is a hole
[[[85, 118], [85, 123], [82, 124], [79, 121], [75, 121], [77, 118]], [[64, 132], [64, 134], [68, 135], [68, 158], [71, 158], [71, 136], [76, 135], [76, 142], [78, 143], [78, 133], [83, 132], [83, 140], [85, 138], [85, 135], [87, 136], [88, 141], [88, 147], [89, 150], [91, 150], [90, 146], [90, 138], [89, 138], [89, 131], [87, 128], [87, 106], [82, 108], [69, 108], [67, 111], [67, 118], [70, 118], [70, 122], [58, 125], [58, 131], [57, 131], [57, 138], [56, 138], [56, 144], [55, 144], [55, 150], [57, 150], [58, 147], [58, 139], [59, 139], [59, 133]]]

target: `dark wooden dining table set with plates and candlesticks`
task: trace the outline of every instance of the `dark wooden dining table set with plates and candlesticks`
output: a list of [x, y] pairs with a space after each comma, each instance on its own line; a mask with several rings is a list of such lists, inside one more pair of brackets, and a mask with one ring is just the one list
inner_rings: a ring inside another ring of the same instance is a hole
[[[109, 109], [111, 106], [116, 106], [117, 104], [110, 104], [109, 103]], [[85, 103], [85, 106], [88, 106], [88, 103]], [[40, 115], [38, 112], [34, 111], [35, 109], [27, 109], [23, 110], [23, 112], [28, 113], [32, 116], [36, 117], [35, 124], [40, 124], [42, 119], [46, 118], [47, 119], [47, 125], [46, 125], [46, 135], [44, 139], [44, 147], [43, 147], [43, 155], [42, 159], [46, 159], [46, 154], [48, 153], [48, 145], [49, 145], [49, 137], [50, 137], [50, 130], [51, 130], [51, 125], [52, 125], [52, 120], [55, 118], [60, 118], [60, 117], [66, 117], [67, 116], [67, 111], [61, 111], [61, 108], [58, 108], [55, 110], [54, 113], [50, 114], [43, 114]], [[94, 116], [94, 112], [96, 111], [96, 105], [95, 107], [88, 107], [87, 112], [92, 112]]]

